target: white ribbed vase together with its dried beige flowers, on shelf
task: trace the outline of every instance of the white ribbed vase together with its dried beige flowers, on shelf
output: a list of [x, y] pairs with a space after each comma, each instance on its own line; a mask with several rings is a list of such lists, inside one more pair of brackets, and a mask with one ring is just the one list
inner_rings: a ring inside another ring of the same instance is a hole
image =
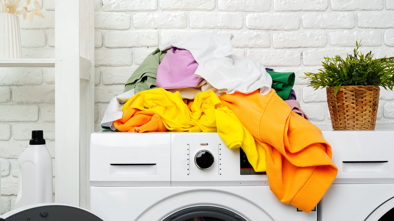
[[[22, 0], [0, 0], [0, 59], [20, 59], [22, 58], [21, 35], [19, 30], [18, 14], [23, 14], [23, 18], [29, 17], [33, 21], [33, 16], [43, 17], [41, 7], [34, 1], [35, 10], [28, 10], [30, 0], [25, 1], [22, 7]], [[18, 10], [22, 7], [21, 10]]]

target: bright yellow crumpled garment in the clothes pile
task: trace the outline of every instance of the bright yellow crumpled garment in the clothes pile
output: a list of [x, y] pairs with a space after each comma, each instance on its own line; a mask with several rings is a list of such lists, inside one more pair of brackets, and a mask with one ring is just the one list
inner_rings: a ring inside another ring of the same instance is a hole
[[[142, 116], [145, 117], [142, 120], [134, 121], [134, 115], [138, 113], [137, 109], [157, 113], [164, 127], [170, 131], [217, 131], [228, 148], [242, 146], [242, 148], [256, 149], [252, 134], [241, 124], [234, 113], [222, 104], [213, 91], [198, 93], [194, 101], [189, 102], [188, 105], [182, 100], [179, 92], [171, 93], [163, 88], [141, 91], [123, 105], [123, 111], [126, 114], [124, 119], [114, 123], [117, 128], [121, 124], [127, 124], [125, 126], [127, 129], [129, 125], [136, 125], [134, 122], [138, 122], [137, 125], [141, 127], [143, 122], [151, 121], [146, 116]], [[159, 118], [154, 120], [158, 121]], [[133, 122], [129, 123], [129, 121]]]

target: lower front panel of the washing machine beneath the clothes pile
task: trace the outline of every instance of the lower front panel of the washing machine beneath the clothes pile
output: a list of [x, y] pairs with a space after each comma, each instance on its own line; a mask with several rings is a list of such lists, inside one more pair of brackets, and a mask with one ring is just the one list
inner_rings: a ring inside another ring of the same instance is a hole
[[91, 187], [105, 221], [316, 221], [316, 211], [279, 202], [268, 186]]

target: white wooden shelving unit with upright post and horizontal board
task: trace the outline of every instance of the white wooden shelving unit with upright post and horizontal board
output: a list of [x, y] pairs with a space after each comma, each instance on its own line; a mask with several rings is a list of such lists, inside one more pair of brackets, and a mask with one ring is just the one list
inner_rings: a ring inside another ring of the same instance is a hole
[[55, 68], [55, 202], [88, 208], [89, 145], [94, 131], [94, 3], [56, 0], [55, 8], [55, 58], [0, 59], [0, 67]]

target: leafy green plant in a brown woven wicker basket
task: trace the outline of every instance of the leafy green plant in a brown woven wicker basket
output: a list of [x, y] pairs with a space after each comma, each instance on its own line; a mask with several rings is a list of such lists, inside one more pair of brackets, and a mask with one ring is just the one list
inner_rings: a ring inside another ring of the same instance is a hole
[[394, 57], [374, 58], [369, 51], [324, 58], [317, 73], [305, 73], [313, 88], [326, 87], [327, 103], [334, 130], [374, 130], [379, 102], [379, 86], [392, 90]]

